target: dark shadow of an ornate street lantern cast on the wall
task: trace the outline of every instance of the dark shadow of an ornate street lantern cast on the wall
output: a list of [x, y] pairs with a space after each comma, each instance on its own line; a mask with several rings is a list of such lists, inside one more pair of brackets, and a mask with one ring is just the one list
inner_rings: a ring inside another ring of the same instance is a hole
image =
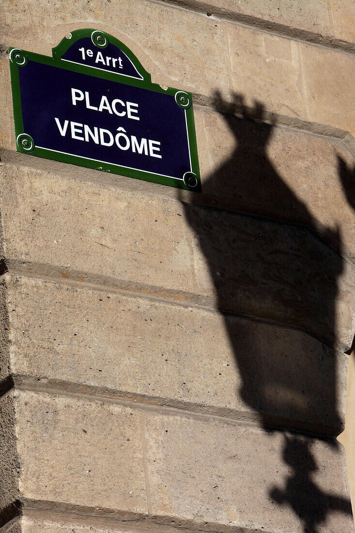
[[[320, 226], [271, 163], [273, 125], [262, 122], [262, 104], [255, 103], [253, 119], [237, 118], [235, 112], [251, 114], [243, 97], [235, 95], [232, 106], [219, 94], [216, 100], [235, 147], [204, 187], [228, 196], [229, 203], [232, 198], [233, 212], [183, 203], [185, 216], [224, 317], [242, 381], [237, 393], [259, 414], [266, 432], [288, 428], [281, 453], [289, 475], [265, 492], [275, 505], [293, 510], [305, 533], [317, 533], [328, 512], [351, 514], [350, 500], [314, 481], [310, 438], [317, 433], [326, 446], [337, 447], [342, 425], [335, 348], [337, 279], [343, 271], [335, 249], [341, 249], [341, 236]], [[353, 181], [339, 165], [350, 190]], [[235, 310], [259, 321], [243, 321]]]

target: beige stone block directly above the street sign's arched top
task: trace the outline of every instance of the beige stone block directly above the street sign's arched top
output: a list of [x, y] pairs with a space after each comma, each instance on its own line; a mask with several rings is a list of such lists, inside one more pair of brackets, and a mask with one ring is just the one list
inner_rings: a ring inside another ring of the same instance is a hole
[[[122, 0], [119, 5], [101, 0], [78, 0], [76, 6], [63, 0], [49, 5], [31, 0], [26, 17], [12, 2], [3, 9], [3, 39], [10, 46], [31, 46], [31, 51], [51, 54], [51, 49], [79, 28], [106, 30], [131, 48], [154, 83], [183, 84], [177, 88], [204, 94], [212, 88], [228, 92], [227, 56], [223, 52], [222, 26], [207, 17], [175, 10], [164, 3]], [[78, 13], [80, 16], [78, 17]], [[41, 17], [41, 25], [32, 21]], [[183, 31], [181, 31], [183, 28]], [[54, 31], [54, 39], [46, 35]], [[37, 41], [37, 43], [36, 43]], [[41, 43], [39, 43], [41, 41]], [[187, 61], [188, 58], [188, 61]], [[198, 65], [198, 68], [196, 66]]]

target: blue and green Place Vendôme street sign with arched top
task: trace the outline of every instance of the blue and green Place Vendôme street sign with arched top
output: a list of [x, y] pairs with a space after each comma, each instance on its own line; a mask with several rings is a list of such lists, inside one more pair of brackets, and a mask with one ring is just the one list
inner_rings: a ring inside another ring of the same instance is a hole
[[84, 29], [9, 58], [17, 151], [201, 190], [191, 93], [151, 83], [123, 43]]

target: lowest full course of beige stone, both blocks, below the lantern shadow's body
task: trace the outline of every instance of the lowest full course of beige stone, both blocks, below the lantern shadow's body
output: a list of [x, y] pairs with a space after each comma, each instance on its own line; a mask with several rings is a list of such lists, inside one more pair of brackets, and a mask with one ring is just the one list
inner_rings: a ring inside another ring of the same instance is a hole
[[[149, 514], [162, 518], [275, 533], [280, 525], [301, 533], [304, 517], [321, 506], [319, 532], [353, 531], [340, 446], [205, 417], [16, 395], [22, 497], [138, 512], [147, 512], [147, 497]], [[294, 503], [297, 483], [305, 496], [294, 512], [287, 498]]]

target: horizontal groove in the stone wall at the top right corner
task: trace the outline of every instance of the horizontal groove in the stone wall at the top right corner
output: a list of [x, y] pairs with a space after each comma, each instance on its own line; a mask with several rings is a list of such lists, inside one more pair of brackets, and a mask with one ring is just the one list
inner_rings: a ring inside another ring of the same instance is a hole
[[154, 2], [168, 4], [175, 7], [175, 9], [179, 8], [185, 11], [192, 11], [225, 22], [235, 22], [240, 26], [247, 26], [248, 28], [265, 31], [274, 35], [288, 37], [294, 41], [302, 41], [304, 43], [318, 45], [328, 49], [355, 54], [354, 43], [342, 41], [341, 39], [336, 39], [332, 36], [294, 28], [279, 22], [261, 19], [259, 17], [254, 17], [253, 15], [239, 13], [238, 11], [231, 11], [223, 7], [216, 7], [213, 4], [195, 2], [195, 0], [154, 0]]

